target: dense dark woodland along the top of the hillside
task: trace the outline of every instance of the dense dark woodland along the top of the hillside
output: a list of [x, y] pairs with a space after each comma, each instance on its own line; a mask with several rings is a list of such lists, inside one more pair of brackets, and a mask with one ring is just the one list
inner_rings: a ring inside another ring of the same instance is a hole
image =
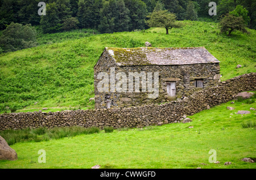
[[[177, 20], [210, 18], [222, 15], [241, 5], [248, 11], [250, 28], [256, 28], [256, 0], [215, 0], [217, 15], [210, 16], [209, 0], [44, 0], [46, 15], [38, 15], [38, 0], [0, 0], [0, 29], [11, 22], [39, 26], [43, 33], [75, 28], [94, 28], [101, 33], [143, 30], [147, 15], [155, 8], [168, 10]], [[158, 7], [157, 7], [158, 6]]]

